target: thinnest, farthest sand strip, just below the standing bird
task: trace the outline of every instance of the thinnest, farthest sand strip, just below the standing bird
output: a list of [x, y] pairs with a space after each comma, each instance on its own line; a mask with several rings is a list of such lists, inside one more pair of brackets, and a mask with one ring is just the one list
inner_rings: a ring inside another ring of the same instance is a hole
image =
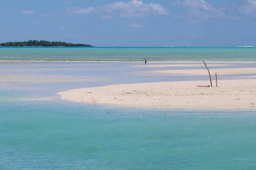
[[[231, 64], [208, 64], [208, 67], [210, 66], [232, 66]], [[127, 66], [127, 67], [145, 67], [145, 65], [131, 65], [131, 66]], [[204, 63], [203, 64], [162, 64], [162, 65], [147, 65], [146, 67], [204, 67]]]

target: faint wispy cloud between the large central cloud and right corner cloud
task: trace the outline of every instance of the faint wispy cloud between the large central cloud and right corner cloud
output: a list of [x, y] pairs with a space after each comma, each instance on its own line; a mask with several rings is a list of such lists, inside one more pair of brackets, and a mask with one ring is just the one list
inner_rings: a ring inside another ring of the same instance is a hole
[[228, 18], [225, 8], [216, 8], [205, 0], [178, 0], [176, 4], [188, 7], [191, 23], [201, 23], [212, 18]]

